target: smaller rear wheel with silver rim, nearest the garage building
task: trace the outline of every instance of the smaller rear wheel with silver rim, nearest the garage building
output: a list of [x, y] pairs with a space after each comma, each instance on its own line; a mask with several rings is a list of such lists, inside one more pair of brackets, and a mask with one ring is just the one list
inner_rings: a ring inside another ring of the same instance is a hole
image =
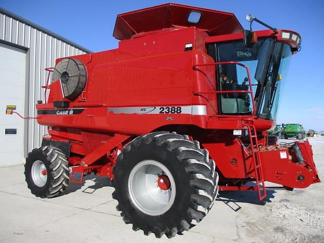
[[52, 146], [33, 149], [26, 158], [25, 178], [31, 193], [37, 197], [49, 198], [61, 194], [69, 181], [65, 154]]

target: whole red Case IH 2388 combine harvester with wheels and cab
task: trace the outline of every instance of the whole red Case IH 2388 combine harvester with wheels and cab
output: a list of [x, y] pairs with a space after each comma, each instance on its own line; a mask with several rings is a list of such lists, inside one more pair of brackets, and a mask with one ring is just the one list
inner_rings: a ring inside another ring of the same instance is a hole
[[36, 105], [49, 135], [26, 160], [31, 192], [53, 197], [86, 174], [106, 176], [126, 223], [173, 237], [206, 216], [219, 190], [262, 200], [265, 181], [319, 182], [308, 141], [276, 146], [266, 136], [301, 37], [247, 19], [267, 29], [160, 5], [117, 16], [118, 49], [58, 59]]

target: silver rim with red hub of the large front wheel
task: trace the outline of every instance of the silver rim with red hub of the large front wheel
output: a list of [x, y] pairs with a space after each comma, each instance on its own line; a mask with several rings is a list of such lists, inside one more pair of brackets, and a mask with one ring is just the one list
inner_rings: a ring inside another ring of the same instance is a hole
[[134, 205], [152, 216], [167, 212], [176, 196], [176, 185], [170, 171], [155, 160], [143, 160], [133, 168], [128, 190]]

